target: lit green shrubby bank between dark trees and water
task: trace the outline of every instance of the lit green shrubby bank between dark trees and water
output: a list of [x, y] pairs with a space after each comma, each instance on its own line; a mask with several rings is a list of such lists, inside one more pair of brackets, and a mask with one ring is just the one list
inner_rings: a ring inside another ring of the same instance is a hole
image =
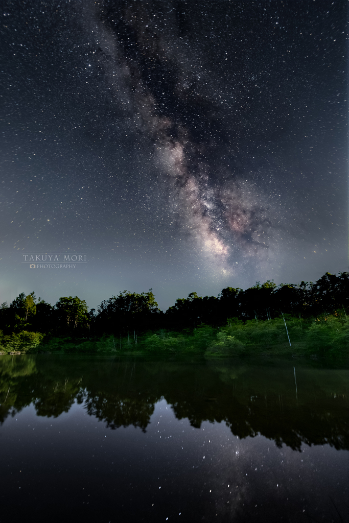
[[349, 319], [335, 313], [308, 320], [291, 316], [274, 320], [243, 322], [237, 318], [213, 328], [201, 325], [181, 332], [160, 330], [99, 339], [43, 337], [22, 332], [0, 337], [3, 354], [21, 353], [183, 353], [212, 357], [270, 356], [349, 356]]

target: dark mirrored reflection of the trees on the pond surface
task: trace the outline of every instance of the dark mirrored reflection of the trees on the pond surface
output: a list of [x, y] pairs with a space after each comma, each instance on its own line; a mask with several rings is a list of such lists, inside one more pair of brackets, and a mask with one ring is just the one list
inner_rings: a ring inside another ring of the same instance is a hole
[[0, 421], [31, 403], [38, 416], [58, 417], [76, 401], [112, 430], [145, 432], [164, 398], [194, 428], [224, 422], [240, 439], [260, 434], [294, 450], [302, 443], [347, 450], [348, 378], [347, 369], [315, 363], [2, 356]]

